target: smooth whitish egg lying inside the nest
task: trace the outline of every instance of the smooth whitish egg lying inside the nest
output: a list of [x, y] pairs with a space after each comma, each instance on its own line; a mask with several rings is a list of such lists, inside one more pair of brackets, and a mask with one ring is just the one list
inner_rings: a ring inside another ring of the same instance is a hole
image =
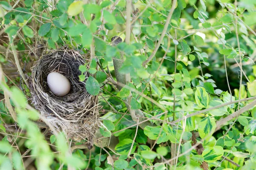
[[70, 82], [60, 73], [52, 72], [47, 76], [47, 83], [53, 94], [65, 96], [70, 91]]

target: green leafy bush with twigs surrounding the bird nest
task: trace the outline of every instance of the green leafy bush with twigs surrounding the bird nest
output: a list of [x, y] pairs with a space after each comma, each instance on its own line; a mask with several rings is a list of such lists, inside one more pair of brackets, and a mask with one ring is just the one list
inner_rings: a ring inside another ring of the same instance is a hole
[[[255, 168], [256, 3], [127, 3], [0, 1], [0, 168], [205, 169], [203, 161], [216, 170]], [[64, 45], [83, 55], [75, 78], [99, 99], [95, 139], [66, 139], [61, 128], [50, 134], [38, 119], [54, 115], [32, 108], [30, 67]], [[77, 149], [92, 141], [98, 147], [90, 152]], [[173, 165], [174, 144], [182, 156]]]

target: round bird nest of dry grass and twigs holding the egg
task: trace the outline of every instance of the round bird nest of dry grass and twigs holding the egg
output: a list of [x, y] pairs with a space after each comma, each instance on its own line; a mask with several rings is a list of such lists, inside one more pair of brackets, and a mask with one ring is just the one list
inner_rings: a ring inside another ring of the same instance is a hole
[[[79, 66], [85, 59], [79, 52], [67, 47], [42, 56], [32, 67], [30, 91], [32, 104], [41, 115], [67, 138], [88, 142], [93, 146], [93, 136], [98, 127], [98, 97], [90, 95], [85, 88], [86, 79], [79, 80]], [[70, 81], [70, 92], [66, 96], [55, 96], [47, 84], [47, 75], [58, 72]]]

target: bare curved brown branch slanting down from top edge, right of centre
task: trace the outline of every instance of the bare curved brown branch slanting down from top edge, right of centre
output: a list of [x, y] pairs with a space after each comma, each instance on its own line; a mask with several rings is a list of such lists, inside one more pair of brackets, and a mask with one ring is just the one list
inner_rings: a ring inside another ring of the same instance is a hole
[[159, 39], [158, 42], [157, 42], [157, 46], [156, 46], [156, 48], [154, 48], [154, 51], [152, 52], [152, 54], [150, 55], [150, 57], [148, 57], [148, 59], [143, 62], [143, 64], [142, 64], [143, 67], [145, 67], [145, 65], [146, 65], [148, 62], [150, 62], [151, 59], [154, 57], [154, 55], [157, 53], [157, 50], [158, 50], [158, 48], [159, 48], [160, 45], [161, 45], [161, 42], [162, 42], [162, 40], [163, 40], [163, 37], [164, 37], [165, 34], [166, 34], [166, 31], [167, 31], [167, 28], [168, 28], [168, 26], [169, 26], [170, 20], [171, 20], [171, 18], [172, 18], [173, 11], [174, 11], [175, 8], [176, 8], [176, 4], [177, 4], [177, 0], [173, 0], [171, 11], [170, 11], [169, 14], [168, 14], [168, 17], [167, 17], [167, 19], [166, 19], [166, 23], [165, 23], [165, 25], [164, 25], [164, 27], [163, 27], [163, 32], [162, 32], [162, 34], [161, 34], [160, 39]]

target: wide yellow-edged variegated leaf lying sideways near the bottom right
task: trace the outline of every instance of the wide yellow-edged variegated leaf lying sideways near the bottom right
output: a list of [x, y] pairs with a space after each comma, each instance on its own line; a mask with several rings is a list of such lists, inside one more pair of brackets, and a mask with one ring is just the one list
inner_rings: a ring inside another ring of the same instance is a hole
[[202, 153], [202, 156], [204, 156], [204, 161], [211, 163], [221, 159], [221, 156], [223, 156], [223, 154], [223, 148], [221, 146], [215, 146], [206, 147], [204, 149], [204, 152]]

